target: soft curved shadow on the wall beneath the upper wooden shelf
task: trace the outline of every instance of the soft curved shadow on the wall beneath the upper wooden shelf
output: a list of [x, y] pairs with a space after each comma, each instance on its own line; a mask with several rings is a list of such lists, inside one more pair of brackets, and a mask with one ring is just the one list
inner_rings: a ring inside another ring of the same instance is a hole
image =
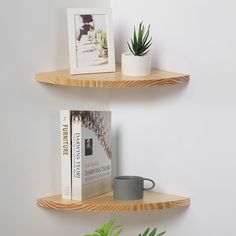
[[[60, 99], [82, 100], [87, 102], [116, 104], [116, 103], [145, 103], [173, 99], [182, 96], [187, 89], [186, 84], [165, 85], [148, 88], [80, 88], [60, 85], [42, 85], [47, 93], [53, 94], [59, 102]], [[42, 99], [42, 98], [41, 98]]]

